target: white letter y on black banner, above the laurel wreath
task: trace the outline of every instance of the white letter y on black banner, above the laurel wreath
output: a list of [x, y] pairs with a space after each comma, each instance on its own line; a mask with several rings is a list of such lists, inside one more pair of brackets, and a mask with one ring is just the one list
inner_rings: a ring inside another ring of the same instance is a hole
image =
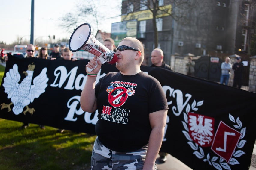
[[[172, 97], [175, 97], [175, 94], [177, 96], [177, 98], [176, 98], [177, 107], [173, 106], [172, 112], [175, 116], [180, 116], [182, 110], [187, 105], [187, 103], [190, 100], [190, 98], [192, 97], [192, 95], [186, 94], [185, 96], [187, 97], [187, 100], [183, 104], [183, 94], [182, 94], [181, 90], [174, 90], [174, 92], [172, 93]], [[176, 112], [176, 111], [178, 111], [178, 112]]]

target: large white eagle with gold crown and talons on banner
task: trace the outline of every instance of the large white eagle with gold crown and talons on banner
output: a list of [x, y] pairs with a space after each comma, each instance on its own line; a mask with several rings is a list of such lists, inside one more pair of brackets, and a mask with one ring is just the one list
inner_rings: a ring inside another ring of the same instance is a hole
[[26, 110], [23, 112], [24, 114], [27, 112], [30, 114], [34, 113], [35, 109], [29, 108], [28, 105], [32, 103], [35, 98], [38, 98], [42, 93], [45, 92], [47, 81], [49, 80], [46, 75], [47, 68], [44, 68], [41, 73], [34, 78], [32, 85], [31, 82], [34, 69], [35, 65], [33, 63], [29, 64], [28, 70], [23, 72], [26, 77], [20, 84], [20, 73], [18, 72], [17, 64], [14, 64], [13, 68], [6, 73], [3, 87], [5, 88], [5, 93], [8, 94], [7, 98], [11, 98], [11, 103], [2, 103], [1, 110], [3, 108], [8, 108], [8, 112], [10, 112], [10, 106], [13, 104], [12, 110], [15, 115], [22, 113], [24, 107], [26, 107]]

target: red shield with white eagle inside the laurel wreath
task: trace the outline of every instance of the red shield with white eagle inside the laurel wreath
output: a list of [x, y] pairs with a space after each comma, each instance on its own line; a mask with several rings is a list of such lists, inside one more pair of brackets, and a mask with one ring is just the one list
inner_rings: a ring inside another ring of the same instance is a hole
[[188, 113], [188, 117], [191, 139], [202, 147], [211, 146], [214, 137], [214, 118], [195, 113]]

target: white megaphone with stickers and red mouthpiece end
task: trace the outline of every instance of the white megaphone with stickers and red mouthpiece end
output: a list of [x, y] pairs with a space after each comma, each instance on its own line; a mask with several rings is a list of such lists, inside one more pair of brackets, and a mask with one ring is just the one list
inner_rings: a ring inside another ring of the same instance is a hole
[[[96, 38], [91, 34], [91, 26], [88, 23], [84, 23], [80, 25], [75, 31], [72, 33], [69, 39], [69, 49], [72, 52], [84, 50], [89, 53], [95, 55], [101, 63], [109, 63], [114, 64], [117, 62], [117, 56], [114, 54], [114, 51], [106, 48], [102, 43], [100, 43]], [[92, 69], [87, 67], [87, 71], [90, 73], [97, 66]]]

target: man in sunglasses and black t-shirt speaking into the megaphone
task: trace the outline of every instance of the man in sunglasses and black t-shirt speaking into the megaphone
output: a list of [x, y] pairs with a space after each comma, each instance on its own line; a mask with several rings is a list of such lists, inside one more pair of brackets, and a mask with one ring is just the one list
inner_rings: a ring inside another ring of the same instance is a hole
[[[167, 100], [161, 84], [142, 72], [142, 43], [124, 38], [116, 48], [116, 68], [96, 83], [101, 62], [96, 57], [86, 65], [87, 80], [81, 93], [81, 108], [98, 110], [91, 170], [157, 169], [167, 117]], [[96, 62], [98, 66], [96, 66]], [[113, 102], [120, 98], [118, 103]]]

